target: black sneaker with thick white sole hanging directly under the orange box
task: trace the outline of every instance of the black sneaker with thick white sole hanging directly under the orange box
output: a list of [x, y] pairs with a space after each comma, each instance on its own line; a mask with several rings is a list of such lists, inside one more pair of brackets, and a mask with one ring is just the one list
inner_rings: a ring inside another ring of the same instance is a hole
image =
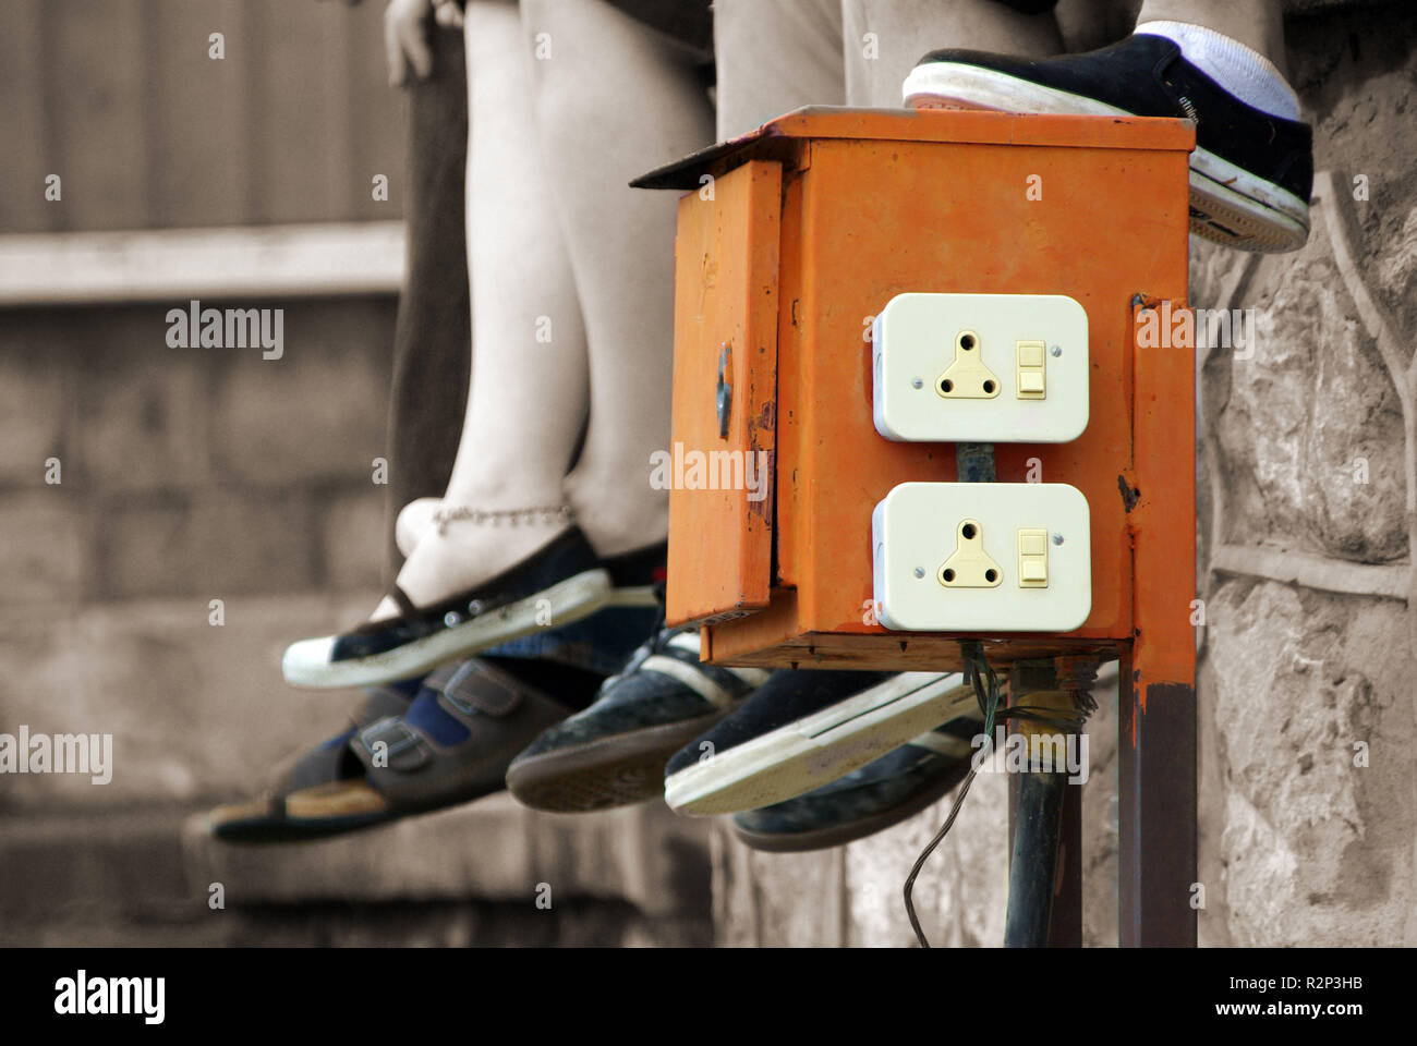
[[779, 670], [679, 751], [665, 801], [680, 814], [771, 806], [843, 777], [978, 709], [958, 675]]

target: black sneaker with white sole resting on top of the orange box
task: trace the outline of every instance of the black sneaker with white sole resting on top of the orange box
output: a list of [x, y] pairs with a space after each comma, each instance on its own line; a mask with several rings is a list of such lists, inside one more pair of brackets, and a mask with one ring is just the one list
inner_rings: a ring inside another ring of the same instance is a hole
[[917, 109], [1190, 118], [1192, 232], [1244, 251], [1297, 251], [1309, 235], [1309, 126], [1246, 105], [1166, 37], [1139, 33], [1040, 60], [932, 51], [905, 78], [904, 96]]

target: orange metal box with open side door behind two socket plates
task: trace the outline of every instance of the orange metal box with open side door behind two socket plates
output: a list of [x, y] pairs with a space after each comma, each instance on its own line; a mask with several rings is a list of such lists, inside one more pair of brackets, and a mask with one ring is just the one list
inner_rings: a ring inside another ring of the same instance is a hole
[[[955, 479], [952, 444], [876, 432], [871, 317], [910, 291], [1061, 293], [1087, 312], [1088, 425], [999, 444], [996, 478], [1024, 482], [1037, 459], [1034, 479], [1087, 496], [1093, 609], [1067, 635], [979, 638], [998, 665], [1135, 652], [1146, 682], [1192, 683], [1192, 353], [1138, 347], [1136, 309], [1185, 306], [1193, 140], [1182, 120], [802, 109], [638, 183], [694, 190], [676, 241], [667, 601], [672, 624], [706, 625], [707, 660], [958, 668], [958, 635], [871, 612], [873, 507], [897, 483]], [[724, 463], [745, 469], [738, 489], [703, 489]]]

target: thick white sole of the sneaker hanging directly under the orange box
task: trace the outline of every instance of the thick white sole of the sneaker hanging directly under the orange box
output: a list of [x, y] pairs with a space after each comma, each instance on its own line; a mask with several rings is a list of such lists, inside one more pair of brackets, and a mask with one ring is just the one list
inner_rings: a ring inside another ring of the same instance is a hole
[[679, 814], [737, 814], [850, 774], [979, 702], [959, 675], [904, 672], [829, 709], [684, 767], [665, 780]]

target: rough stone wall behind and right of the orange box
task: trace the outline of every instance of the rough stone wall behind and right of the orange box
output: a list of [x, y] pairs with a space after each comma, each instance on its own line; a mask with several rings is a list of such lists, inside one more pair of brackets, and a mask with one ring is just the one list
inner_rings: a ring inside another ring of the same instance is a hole
[[[1192, 303], [1257, 322], [1253, 346], [1197, 359], [1199, 937], [1413, 945], [1417, 18], [1308, 7], [1322, 10], [1292, 17], [1288, 44], [1323, 171], [1309, 242], [1192, 255]], [[1115, 675], [1104, 682], [1084, 787], [1091, 945], [1117, 943]], [[901, 884], [949, 801], [823, 855], [748, 853], [718, 826], [721, 940], [911, 943]], [[932, 943], [1002, 943], [1006, 818], [1005, 782], [981, 777], [917, 880]]]

